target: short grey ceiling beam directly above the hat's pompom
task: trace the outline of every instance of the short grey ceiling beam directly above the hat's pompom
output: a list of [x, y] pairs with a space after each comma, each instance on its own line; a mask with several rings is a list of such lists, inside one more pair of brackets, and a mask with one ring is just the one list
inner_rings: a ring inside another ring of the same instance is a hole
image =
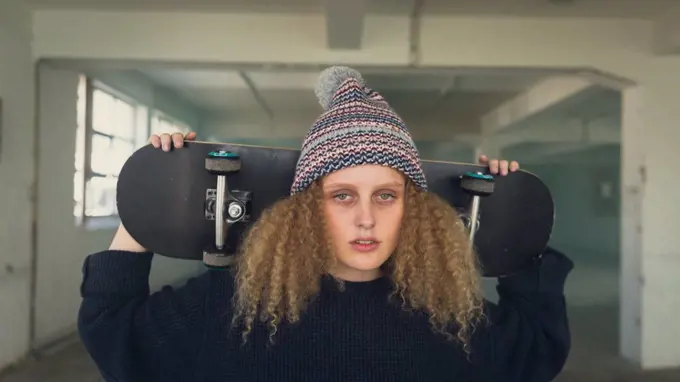
[[328, 49], [361, 49], [366, 0], [324, 0]]

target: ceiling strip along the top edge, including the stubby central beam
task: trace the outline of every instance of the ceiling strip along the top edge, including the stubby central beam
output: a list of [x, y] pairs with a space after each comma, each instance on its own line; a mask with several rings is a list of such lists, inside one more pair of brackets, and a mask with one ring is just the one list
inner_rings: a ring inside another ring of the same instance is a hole
[[[322, 14], [329, 49], [360, 49], [366, 15], [634, 17], [661, 20], [675, 0], [26, 0], [36, 9]], [[644, 3], [644, 5], [643, 5]]]

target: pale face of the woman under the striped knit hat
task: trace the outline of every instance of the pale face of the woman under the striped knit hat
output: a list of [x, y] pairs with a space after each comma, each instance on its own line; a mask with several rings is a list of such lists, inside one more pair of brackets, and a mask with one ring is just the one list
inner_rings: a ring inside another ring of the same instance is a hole
[[346, 168], [322, 182], [324, 212], [337, 266], [347, 281], [373, 280], [397, 246], [404, 215], [405, 177], [379, 165]]

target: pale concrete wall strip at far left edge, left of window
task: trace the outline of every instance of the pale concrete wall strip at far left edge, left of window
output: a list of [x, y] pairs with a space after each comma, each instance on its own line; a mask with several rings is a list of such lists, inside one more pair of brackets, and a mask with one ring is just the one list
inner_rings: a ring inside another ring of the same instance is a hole
[[31, 16], [0, 1], [0, 369], [29, 350], [35, 114]]

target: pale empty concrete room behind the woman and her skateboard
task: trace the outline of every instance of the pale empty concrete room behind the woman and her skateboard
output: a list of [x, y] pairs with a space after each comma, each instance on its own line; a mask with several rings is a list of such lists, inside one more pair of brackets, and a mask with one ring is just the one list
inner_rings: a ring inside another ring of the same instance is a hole
[[[620, 3], [3, 2], [0, 381], [103, 380], [76, 332], [83, 260], [111, 242], [118, 174], [151, 135], [297, 150], [334, 64], [423, 159], [516, 160], [548, 186], [549, 245], [575, 263], [555, 381], [677, 380], [680, 8]], [[156, 256], [150, 288], [204, 271]]]

